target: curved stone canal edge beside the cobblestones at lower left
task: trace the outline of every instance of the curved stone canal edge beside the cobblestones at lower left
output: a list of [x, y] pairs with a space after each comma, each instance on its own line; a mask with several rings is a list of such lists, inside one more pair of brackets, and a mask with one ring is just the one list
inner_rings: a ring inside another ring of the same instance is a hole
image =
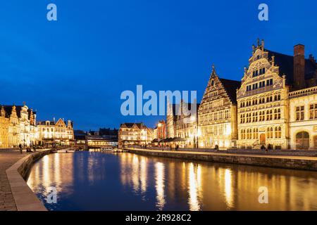
[[46, 211], [46, 207], [32, 192], [25, 181], [27, 173], [30, 171], [34, 162], [44, 155], [51, 153], [49, 150], [39, 150], [36, 153], [25, 156], [15, 162], [10, 168], [6, 169], [8, 184], [14, 199], [15, 208], [18, 211]]

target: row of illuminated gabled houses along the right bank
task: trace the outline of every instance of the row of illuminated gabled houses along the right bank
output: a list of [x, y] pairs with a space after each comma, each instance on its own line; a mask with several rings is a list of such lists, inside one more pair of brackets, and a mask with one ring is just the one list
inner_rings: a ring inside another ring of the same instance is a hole
[[184, 148], [317, 149], [317, 64], [302, 44], [290, 56], [258, 39], [241, 82], [222, 78], [213, 66], [189, 115], [191, 105], [167, 105], [166, 138], [180, 138]]

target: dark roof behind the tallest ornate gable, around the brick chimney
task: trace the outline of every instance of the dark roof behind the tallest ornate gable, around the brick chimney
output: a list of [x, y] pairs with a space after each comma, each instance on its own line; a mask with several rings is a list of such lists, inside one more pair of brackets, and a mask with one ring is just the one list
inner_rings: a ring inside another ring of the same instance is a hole
[[[268, 51], [268, 58], [272, 59], [275, 56], [275, 65], [279, 67], [280, 75], [286, 76], [287, 84], [292, 84], [294, 82], [294, 56], [285, 55], [275, 51]], [[305, 59], [305, 79], [311, 79], [315, 75], [317, 69], [316, 63], [313, 63], [310, 59]]]

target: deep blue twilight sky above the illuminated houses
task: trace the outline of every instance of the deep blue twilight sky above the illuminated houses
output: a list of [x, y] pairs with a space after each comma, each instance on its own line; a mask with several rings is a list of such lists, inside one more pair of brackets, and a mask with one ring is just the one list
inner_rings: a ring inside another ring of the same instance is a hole
[[[54, 3], [58, 21], [46, 20]], [[268, 4], [269, 21], [258, 20]], [[0, 4], [0, 104], [27, 105], [38, 119], [75, 129], [119, 127], [160, 117], [124, 117], [120, 94], [206, 87], [211, 65], [241, 79], [256, 38], [317, 56], [317, 1], [10, 0]]]

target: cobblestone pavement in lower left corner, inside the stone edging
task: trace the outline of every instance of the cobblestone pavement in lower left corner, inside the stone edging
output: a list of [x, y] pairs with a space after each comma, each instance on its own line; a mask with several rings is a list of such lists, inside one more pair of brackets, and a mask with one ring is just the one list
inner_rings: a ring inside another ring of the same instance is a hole
[[0, 211], [16, 211], [15, 201], [11, 193], [6, 169], [11, 167], [20, 158], [25, 157], [27, 153], [20, 154], [18, 150], [0, 149]]

